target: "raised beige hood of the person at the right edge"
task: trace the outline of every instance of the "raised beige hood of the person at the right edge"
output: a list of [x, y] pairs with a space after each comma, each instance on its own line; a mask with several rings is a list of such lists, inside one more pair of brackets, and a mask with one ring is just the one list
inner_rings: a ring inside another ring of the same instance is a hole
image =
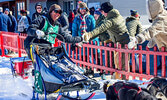
[[162, 0], [147, 0], [146, 4], [151, 19], [155, 19], [158, 14], [165, 10]]

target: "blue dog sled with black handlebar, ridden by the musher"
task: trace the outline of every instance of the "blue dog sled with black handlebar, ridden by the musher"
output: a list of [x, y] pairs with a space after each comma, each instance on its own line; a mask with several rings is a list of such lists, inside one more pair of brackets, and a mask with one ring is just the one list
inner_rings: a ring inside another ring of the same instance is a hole
[[[35, 39], [30, 52], [35, 69], [34, 92], [44, 93], [45, 99], [50, 93], [58, 93], [57, 100], [61, 97], [72, 100], [90, 99], [95, 95], [92, 92], [99, 89], [100, 85], [85, 76], [84, 71], [68, 57], [63, 43], [59, 47], [51, 47], [49, 42]], [[92, 94], [80, 98], [81, 90]], [[70, 97], [71, 91], [76, 91], [76, 97]]]

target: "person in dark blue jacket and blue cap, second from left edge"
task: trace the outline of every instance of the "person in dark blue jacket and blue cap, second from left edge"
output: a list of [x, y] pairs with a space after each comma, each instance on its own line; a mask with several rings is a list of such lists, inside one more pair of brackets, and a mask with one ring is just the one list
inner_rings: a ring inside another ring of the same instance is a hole
[[12, 22], [12, 26], [9, 29], [9, 31], [10, 32], [16, 32], [16, 30], [17, 30], [17, 21], [16, 21], [16, 18], [12, 14], [10, 14], [10, 10], [8, 8], [5, 9], [4, 14], [8, 15], [9, 18], [10, 18], [10, 20], [11, 20], [11, 22]]

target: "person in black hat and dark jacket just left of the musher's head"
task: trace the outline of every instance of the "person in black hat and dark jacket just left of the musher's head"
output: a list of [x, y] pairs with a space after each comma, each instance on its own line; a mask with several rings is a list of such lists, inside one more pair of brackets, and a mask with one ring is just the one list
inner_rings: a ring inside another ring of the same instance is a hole
[[38, 18], [38, 16], [41, 16], [42, 15], [42, 4], [41, 2], [38, 2], [35, 4], [35, 10], [36, 12], [33, 13], [32, 15], [32, 21], [36, 18]]

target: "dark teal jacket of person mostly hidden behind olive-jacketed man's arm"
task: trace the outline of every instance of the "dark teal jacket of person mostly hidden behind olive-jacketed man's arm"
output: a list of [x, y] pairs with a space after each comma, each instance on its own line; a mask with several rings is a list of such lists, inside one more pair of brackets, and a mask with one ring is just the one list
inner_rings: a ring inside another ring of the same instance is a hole
[[[99, 18], [96, 20], [96, 27], [100, 26], [103, 23], [103, 20], [105, 19], [104, 15], [100, 15]], [[107, 31], [103, 32], [102, 34], [98, 35], [100, 42], [104, 42], [110, 38]]]

